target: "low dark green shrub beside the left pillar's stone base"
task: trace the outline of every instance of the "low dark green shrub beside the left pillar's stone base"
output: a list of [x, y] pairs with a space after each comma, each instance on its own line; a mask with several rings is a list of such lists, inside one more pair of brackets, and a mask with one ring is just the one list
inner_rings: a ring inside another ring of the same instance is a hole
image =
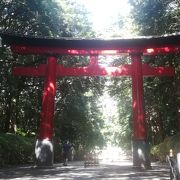
[[35, 138], [0, 134], [0, 166], [28, 164], [34, 161]]

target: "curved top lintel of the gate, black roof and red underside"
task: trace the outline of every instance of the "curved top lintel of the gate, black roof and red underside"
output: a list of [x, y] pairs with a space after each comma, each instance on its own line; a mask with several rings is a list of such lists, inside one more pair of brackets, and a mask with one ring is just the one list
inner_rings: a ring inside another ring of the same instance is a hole
[[180, 47], [180, 34], [113, 39], [49, 38], [6, 33], [0, 36], [2, 44], [11, 46], [12, 51], [19, 54], [157, 54], [177, 52]]

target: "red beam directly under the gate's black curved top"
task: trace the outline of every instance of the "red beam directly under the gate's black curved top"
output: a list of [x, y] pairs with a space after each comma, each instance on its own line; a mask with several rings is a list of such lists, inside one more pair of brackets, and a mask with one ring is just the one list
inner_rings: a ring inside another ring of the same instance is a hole
[[61, 55], [115, 55], [115, 54], [129, 54], [129, 53], [143, 53], [149, 55], [168, 54], [179, 52], [179, 48], [175, 46], [159, 47], [159, 48], [119, 48], [119, 49], [66, 49], [58, 47], [34, 47], [23, 45], [12, 45], [11, 50], [18, 54], [61, 54]]

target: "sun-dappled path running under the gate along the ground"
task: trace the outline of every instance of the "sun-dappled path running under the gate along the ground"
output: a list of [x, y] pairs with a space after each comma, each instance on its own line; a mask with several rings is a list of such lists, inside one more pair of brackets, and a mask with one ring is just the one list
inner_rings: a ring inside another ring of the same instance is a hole
[[152, 164], [152, 170], [135, 170], [129, 161], [104, 163], [84, 168], [83, 162], [71, 162], [67, 167], [56, 164], [51, 169], [30, 166], [0, 169], [0, 179], [14, 180], [167, 180], [169, 169], [166, 165]]

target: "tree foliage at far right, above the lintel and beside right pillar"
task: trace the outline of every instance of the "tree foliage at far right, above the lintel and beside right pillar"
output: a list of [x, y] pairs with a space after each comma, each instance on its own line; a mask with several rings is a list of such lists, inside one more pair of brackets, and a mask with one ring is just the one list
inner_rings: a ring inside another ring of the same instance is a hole
[[[129, 0], [133, 6], [132, 17], [139, 35], [164, 35], [179, 32], [179, 2], [174, 0]], [[143, 62], [152, 66], [173, 66], [175, 77], [144, 78], [146, 121], [152, 144], [180, 128], [179, 53], [144, 56]]]

